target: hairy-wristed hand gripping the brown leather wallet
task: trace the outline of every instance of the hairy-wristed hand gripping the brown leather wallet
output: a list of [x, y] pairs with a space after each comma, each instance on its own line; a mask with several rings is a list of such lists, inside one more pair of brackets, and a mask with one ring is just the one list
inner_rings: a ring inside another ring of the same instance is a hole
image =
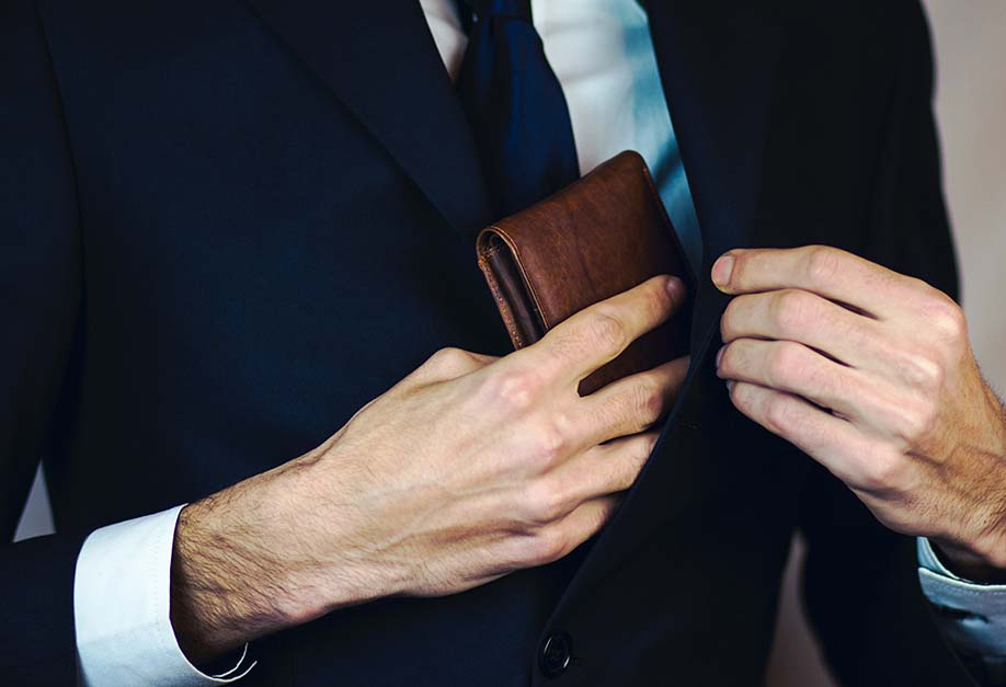
[[172, 621], [205, 660], [333, 609], [556, 561], [608, 522], [688, 362], [581, 398], [684, 301], [655, 277], [503, 358], [437, 352], [309, 454], [183, 509]]

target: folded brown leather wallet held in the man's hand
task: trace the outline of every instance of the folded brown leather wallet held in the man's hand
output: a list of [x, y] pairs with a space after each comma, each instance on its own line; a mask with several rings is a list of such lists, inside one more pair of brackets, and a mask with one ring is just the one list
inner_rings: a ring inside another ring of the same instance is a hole
[[695, 278], [639, 153], [618, 153], [555, 195], [487, 227], [476, 243], [479, 267], [516, 348], [658, 274], [685, 283], [685, 307], [581, 381], [582, 396], [687, 352]]

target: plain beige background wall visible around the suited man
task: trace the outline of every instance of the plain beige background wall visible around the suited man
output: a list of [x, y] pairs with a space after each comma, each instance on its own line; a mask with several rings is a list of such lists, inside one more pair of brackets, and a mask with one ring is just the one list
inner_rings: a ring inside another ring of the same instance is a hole
[[[1006, 392], [1006, 0], [927, 0], [938, 60], [946, 188], [964, 276], [974, 350]], [[44, 490], [33, 491], [20, 537], [52, 530]], [[790, 561], [769, 687], [831, 685], [807, 633]]]

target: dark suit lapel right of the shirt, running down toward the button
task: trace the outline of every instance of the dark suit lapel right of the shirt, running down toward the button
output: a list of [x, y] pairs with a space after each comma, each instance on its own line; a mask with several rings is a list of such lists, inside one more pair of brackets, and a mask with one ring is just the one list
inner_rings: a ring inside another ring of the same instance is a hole
[[781, 31], [742, 0], [650, 0], [661, 82], [702, 230], [704, 259], [691, 329], [691, 369], [650, 460], [574, 577], [560, 609], [640, 546], [652, 529], [723, 481], [723, 456], [706, 455], [716, 432], [710, 374], [729, 298], [709, 279], [722, 252], [754, 233], [773, 77]]

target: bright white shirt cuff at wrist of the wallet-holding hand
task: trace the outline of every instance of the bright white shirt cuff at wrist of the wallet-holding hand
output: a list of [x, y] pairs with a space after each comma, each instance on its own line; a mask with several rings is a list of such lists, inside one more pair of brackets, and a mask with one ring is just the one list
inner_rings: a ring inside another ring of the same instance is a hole
[[84, 687], [226, 685], [254, 667], [206, 675], [182, 652], [171, 626], [171, 553], [178, 506], [102, 527], [84, 541], [73, 579], [80, 684]]

